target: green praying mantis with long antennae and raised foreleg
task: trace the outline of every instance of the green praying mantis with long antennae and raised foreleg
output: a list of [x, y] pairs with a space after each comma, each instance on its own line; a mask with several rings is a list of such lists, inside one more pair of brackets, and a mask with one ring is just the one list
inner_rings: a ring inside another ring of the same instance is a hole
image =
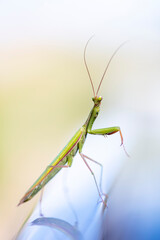
[[[101, 102], [103, 99], [101, 96], [98, 96], [103, 79], [105, 77], [105, 74], [107, 72], [107, 69], [108, 69], [113, 57], [118, 52], [118, 50], [125, 44], [125, 42], [122, 43], [116, 49], [116, 51], [113, 53], [113, 55], [111, 56], [107, 66], [104, 70], [104, 73], [100, 80], [97, 91], [95, 92], [93, 81], [92, 81], [92, 78], [91, 78], [91, 75], [90, 75], [90, 72], [89, 72], [89, 69], [87, 66], [87, 62], [86, 62], [86, 49], [87, 49], [88, 43], [91, 40], [91, 38], [88, 40], [88, 42], [85, 46], [85, 49], [84, 49], [84, 63], [85, 63], [85, 67], [86, 67], [86, 70], [87, 70], [87, 73], [89, 76], [89, 80], [90, 80], [90, 83], [92, 86], [92, 90], [93, 90], [93, 95], [94, 95], [92, 98], [92, 101], [94, 104], [93, 108], [91, 109], [91, 111], [87, 117], [87, 120], [85, 121], [83, 126], [74, 134], [74, 136], [67, 143], [67, 145], [62, 149], [62, 151], [57, 155], [57, 157], [44, 170], [44, 172], [35, 181], [35, 183], [28, 189], [28, 191], [25, 193], [25, 195], [20, 200], [18, 206], [24, 202], [31, 200], [62, 168], [71, 167], [73, 158], [76, 155], [77, 151], [79, 151], [81, 158], [83, 159], [84, 163], [86, 164], [86, 166], [88, 167], [88, 169], [90, 170], [90, 172], [94, 178], [96, 188], [97, 188], [97, 191], [98, 191], [101, 201], [104, 203], [104, 205], [106, 205], [106, 202], [103, 200], [103, 197], [102, 197], [103, 193], [101, 192], [101, 189], [97, 184], [96, 177], [95, 177], [93, 171], [91, 170], [90, 166], [88, 165], [87, 160], [91, 160], [99, 165], [101, 165], [101, 164], [96, 162], [95, 160], [91, 159], [90, 157], [86, 156], [85, 154], [83, 154], [82, 149], [83, 149], [83, 145], [86, 140], [87, 134], [107, 136], [107, 135], [112, 135], [116, 132], [119, 132], [120, 138], [121, 138], [121, 145], [123, 145], [123, 136], [122, 136], [120, 127], [115, 126], [115, 127], [109, 127], [109, 128], [92, 129], [92, 126], [99, 114], [100, 105], [101, 105]], [[123, 145], [123, 148], [124, 148], [124, 145]], [[124, 151], [126, 152], [125, 148], [124, 148]], [[127, 152], [126, 152], [126, 154], [127, 154]]]

